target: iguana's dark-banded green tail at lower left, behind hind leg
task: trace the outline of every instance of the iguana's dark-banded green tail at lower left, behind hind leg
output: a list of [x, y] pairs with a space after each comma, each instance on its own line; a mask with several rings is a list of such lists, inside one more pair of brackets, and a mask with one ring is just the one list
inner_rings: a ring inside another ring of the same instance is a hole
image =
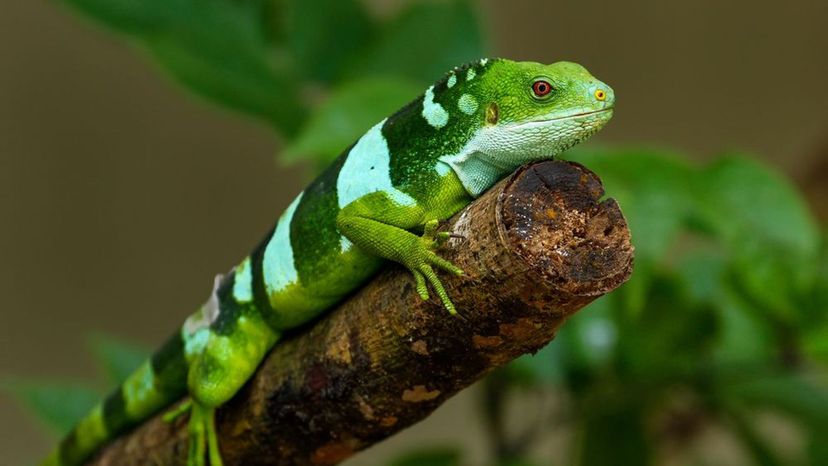
[[40, 466], [80, 466], [109, 440], [187, 392], [184, 339], [173, 335], [124, 383], [78, 422]]

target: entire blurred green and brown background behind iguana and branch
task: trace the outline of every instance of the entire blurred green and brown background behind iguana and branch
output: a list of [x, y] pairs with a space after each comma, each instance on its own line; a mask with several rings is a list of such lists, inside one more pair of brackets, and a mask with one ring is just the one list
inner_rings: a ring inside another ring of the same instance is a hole
[[7, 2], [0, 464], [42, 455], [39, 427], [179, 325], [319, 166], [479, 56], [613, 86], [612, 123], [567, 157], [621, 203], [636, 272], [348, 464], [828, 464], [826, 19], [816, 0]]

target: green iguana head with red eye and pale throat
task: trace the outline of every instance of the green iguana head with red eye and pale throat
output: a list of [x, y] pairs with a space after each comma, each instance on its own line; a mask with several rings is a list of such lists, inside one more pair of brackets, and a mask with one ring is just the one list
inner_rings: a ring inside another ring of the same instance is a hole
[[551, 159], [592, 136], [615, 105], [611, 87], [570, 62], [484, 59], [451, 71], [444, 88], [455, 85], [468, 139], [441, 160], [472, 195], [526, 162]]

